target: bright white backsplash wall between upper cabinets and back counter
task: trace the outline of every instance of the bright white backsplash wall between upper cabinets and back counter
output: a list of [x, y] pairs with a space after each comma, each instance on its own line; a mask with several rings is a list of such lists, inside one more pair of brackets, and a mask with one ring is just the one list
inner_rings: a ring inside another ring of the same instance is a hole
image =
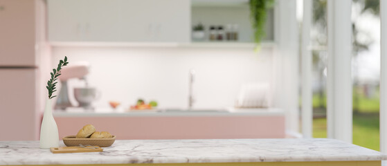
[[[192, 47], [53, 47], [53, 65], [64, 56], [69, 62], [91, 63], [89, 84], [102, 91], [96, 107], [118, 100], [124, 107], [138, 98], [156, 100], [161, 108], [188, 106], [188, 71], [195, 68], [197, 109], [233, 107], [240, 86], [269, 82], [272, 49]], [[69, 86], [80, 85], [71, 80]]]

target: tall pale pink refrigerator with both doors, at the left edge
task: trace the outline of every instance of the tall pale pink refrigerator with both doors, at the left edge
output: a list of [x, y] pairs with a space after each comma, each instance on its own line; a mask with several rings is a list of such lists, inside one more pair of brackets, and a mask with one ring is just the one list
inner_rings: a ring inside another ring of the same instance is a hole
[[51, 68], [44, 0], [0, 0], [0, 140], [38, 140]]

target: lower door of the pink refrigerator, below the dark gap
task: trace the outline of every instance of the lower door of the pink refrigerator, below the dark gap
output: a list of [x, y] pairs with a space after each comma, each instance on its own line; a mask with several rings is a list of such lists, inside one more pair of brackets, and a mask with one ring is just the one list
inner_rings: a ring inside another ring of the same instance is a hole
[[38, 138], [36, 75], [31, 68], [0, 69], [0, 140]]

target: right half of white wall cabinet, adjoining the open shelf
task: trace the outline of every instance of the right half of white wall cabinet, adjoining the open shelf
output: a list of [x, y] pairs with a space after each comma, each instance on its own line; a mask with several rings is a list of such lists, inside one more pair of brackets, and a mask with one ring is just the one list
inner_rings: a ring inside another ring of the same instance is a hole
[[[125, 39], [150, 42], [190, 42], [189, 0], [122, 0]], [[135, 5], [134, 5], [135, 4]]]

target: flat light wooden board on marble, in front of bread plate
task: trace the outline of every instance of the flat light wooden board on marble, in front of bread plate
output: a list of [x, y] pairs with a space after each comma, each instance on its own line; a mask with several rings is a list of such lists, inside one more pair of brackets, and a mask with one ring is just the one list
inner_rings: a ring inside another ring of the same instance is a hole
[[80, 145], [76, 147], [51, 147], [50, 151], [53, 154], [67, 154], [67, 153], [84, 153], [84, 152], [102, 152], [103, 149], [98, 146]]

